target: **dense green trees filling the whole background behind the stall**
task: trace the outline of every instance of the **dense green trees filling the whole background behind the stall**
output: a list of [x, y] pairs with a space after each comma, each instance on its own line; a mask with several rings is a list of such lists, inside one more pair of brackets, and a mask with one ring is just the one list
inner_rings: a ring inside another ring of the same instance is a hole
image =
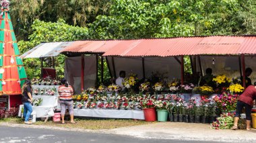
[[[11, 17], [18, 39], [29, 40], [19, 42], [22, 52], [40, 42], [86, 38], [256, 33], [256, 1], [253, 0], [12, 0]], [[59, 18], [82, 28], [57, 21]], [[61, 75], [63, 56], [57, 62], [57, 71]], [[39, 75], [39, 70], [34, 71], [34, 65], [39, 65], [38, 60], [29, 59], [25, 64], [32, 67], [28, 71], [30, 77]], [[185, 57], [185, 70], [191, 72], [189, 57]]]

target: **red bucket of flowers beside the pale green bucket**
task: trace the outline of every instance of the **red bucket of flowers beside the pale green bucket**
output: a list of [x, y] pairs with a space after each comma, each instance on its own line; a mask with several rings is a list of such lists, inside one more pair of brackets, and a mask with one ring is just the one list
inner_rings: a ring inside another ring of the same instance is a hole
[[141, 100], [141, 107], [143, 109], [144, 117], [147, 122], [156, 121], [156, 109], [154, 105], [154, 95], [153, 96], [145, 96], [143, 100]]

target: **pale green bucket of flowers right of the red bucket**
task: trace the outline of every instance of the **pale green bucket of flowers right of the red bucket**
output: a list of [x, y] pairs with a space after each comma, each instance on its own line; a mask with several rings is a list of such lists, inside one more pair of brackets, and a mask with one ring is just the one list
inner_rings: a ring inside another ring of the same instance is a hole
[[154, 102], [158, 113], [158, 122], [166, 122], [170, 103], [168, 101], [158, 100]]

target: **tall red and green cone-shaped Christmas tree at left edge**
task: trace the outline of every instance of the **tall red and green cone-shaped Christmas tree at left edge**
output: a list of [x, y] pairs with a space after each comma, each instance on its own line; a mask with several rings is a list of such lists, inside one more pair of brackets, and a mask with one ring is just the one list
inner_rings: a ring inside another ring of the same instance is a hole
[[0, 95], [21, 95], [27, 79], [9, 15], [9, 1], [1, 0]]

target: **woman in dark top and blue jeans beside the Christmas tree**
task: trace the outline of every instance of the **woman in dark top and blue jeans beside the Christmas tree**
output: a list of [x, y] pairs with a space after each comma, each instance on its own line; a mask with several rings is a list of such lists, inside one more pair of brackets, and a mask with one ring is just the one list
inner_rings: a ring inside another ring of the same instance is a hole
[[31, 124], [29, 122], [30, 115], [33, 111], [32, 109], [32, 86], [31, 81], [26, 79], [24, 85], [22, 86], [22, 103], [24, 105], [24, 118], [25, 118], [25, 124]]

